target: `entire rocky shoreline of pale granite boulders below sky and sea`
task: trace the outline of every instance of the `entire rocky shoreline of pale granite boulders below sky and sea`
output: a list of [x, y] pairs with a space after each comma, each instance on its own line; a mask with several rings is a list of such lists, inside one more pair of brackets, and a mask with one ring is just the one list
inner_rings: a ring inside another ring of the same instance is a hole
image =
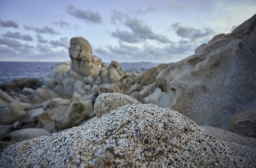
[[255, 25], [145, 72], [72, 38], [71, 62], [1, 86], [0, 166], [256, 166]]

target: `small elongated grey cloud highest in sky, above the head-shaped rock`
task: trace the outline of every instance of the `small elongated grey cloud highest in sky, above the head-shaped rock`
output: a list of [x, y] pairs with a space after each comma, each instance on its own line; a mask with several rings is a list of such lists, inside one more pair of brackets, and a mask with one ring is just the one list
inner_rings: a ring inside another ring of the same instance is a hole
[[85, 20], [87, 23], [101, 23], [102, 18], [98, 12], [92, 12], [90, 10], [84, 11], [83, 9], [75, 9], [72, 4], [67, 5], [67, 13], [70, 15]]

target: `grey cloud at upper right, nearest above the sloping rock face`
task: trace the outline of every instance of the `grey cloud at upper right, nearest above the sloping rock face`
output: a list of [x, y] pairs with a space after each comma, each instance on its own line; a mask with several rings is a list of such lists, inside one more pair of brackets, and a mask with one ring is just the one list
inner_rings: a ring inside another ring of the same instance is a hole
[[194, 29], [191, 27], [184, 27], [180, 22], [172, 24], [173, 30], [183, 38], [189, 38], [191, 41], [198, 40], [199, 38], [207, 37], [214, 33], [210, 28], [203, 28], [204, 30]]

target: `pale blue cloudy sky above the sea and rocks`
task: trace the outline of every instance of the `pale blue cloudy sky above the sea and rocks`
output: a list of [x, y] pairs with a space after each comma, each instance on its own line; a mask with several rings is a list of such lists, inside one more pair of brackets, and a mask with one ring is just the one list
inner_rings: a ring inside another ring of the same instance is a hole
[[256, 0], [0, 0], [0, 61], [68, 61], [83, 37], [103, 62], [176, 62], [255, 13]]

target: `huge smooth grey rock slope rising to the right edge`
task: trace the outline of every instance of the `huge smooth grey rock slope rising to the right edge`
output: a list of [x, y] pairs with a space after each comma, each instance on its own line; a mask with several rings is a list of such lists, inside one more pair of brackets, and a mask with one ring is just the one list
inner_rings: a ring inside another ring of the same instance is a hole
[[234, 33], [217, 35], [194, 55], [161, 71], [155, 86], [162, 95], [154, 104], [199, 125], [223, 129], [234, 115], [255, 107], [255, 24], [256, 15]]

